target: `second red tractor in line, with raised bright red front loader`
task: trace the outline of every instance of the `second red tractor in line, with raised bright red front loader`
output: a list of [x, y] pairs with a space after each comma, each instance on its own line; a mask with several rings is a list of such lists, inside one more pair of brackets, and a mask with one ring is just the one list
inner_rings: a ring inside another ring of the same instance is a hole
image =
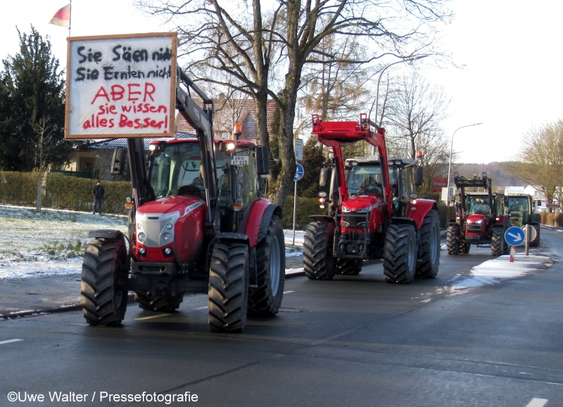
[[[303, 244], [308, 278], [357, 275], [362, 261], [383, 259], [388, 283], [434, 278], [440, 264], [440, 221], [434, 200], [418, 199], [422, 168], [415, 160], [388, 158], [385, 131], [360, 115], [360, 122], [323, 122], [312, 117], [312, 134], [331, 148], [330, 193], [320, 193], [329, 214], [312, 216]], [[342, 143], [364, 140], [378, 157], [344, 160]]]

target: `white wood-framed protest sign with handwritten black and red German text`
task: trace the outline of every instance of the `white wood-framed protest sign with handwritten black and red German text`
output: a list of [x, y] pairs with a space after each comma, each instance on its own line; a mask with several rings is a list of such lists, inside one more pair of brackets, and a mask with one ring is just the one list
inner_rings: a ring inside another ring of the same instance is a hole
[[69, 41], [66, 138], [172, 133], [175, 33]]

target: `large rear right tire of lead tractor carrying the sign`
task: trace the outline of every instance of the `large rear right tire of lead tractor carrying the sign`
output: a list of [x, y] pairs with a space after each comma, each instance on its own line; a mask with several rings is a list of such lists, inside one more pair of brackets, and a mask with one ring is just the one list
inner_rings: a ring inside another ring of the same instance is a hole
[[273, 216], [265, 238], [256, 247], [258, 288], [248, 295], [248, 314], [274, 316], [284, 297], [286, 256], [284, 228], [279, 217]]

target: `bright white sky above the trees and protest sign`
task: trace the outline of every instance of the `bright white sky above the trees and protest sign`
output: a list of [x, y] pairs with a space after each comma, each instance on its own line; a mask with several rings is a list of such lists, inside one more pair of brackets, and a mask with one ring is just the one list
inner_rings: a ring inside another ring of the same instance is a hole
[[[65, 0], [2, 1], [8, 15], [0, 26], [0, 59], [18, 52], [18, 34], [30, 25], [49, 36], [53, 53], [65, 65], [64, 27], [49, 25]], [[443, 86], [451, 98], [441, 126], [457, 162], [488, 163], [517, 157], [526, 131], [563, 119], [560, 16], [557, 0], [453, 0], [453, 22], [441, 28], [441, 49], [456, 67], [436, 67], [431, 58], [417, 61], [430, 84]], [[160, 20], [134, 7], [133, 0], [72, 1], [72, 37], [164, 31]], [[389, 60], [389, 63], [394, 60]], [[398, 70], [393, 70], [398, 72]]]

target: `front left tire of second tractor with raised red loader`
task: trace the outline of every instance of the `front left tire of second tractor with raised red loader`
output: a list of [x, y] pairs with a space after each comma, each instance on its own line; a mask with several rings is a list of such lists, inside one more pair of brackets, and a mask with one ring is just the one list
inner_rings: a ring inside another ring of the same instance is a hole
[[332, 280], [335, 273], [332, 256], [332, 239], [328, 235], [330, 224], [311, 222], [303, 238], [303, 269], [310, 280]]

